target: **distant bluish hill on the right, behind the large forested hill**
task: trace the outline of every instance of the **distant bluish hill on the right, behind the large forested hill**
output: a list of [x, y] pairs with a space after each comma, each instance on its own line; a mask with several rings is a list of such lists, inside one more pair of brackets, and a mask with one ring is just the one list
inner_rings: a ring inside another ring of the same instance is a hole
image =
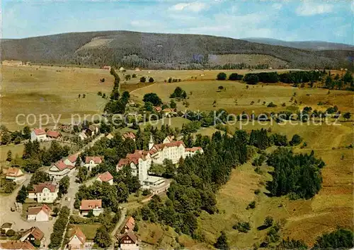
[[263, 37], [249, 37], [242, 38], [249, 42], [258, 42], [261, 44], [278, 45], [284, 47], [292, 47], [296, 49], [309, 49], [309, 50], [351, 50], [354, 51], [354, 46], [336, 42], [321, 42], [321, 41], [298, 41], [287, 42], [283, 40], [277, 40], [272, 38]]

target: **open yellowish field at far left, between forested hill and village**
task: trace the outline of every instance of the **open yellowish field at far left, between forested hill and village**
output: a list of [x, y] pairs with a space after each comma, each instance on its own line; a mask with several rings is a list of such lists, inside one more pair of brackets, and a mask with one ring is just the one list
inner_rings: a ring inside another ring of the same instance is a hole
[[[3, 66], [1, 71], [1, 123], [11, 130], [24, 126], [16, 124], [18, 114], [34, 114], [37, 120], [40, 114], [52, 114], [55, 119], [61, 115], [61, 121], [70, 121], [72, 114], [101, 112], [106, 100], [97, 93], [107, 95], [113, 85], [113, 77], [102, 69]], [[100, 82], [101, 78], [105, 78], [104, 83]], [[84, 94], [86, 97], [82, 98]], [[18, 121], [26, 122], [24, 117]], [[33, 121], [30, 117], [27, 122]]]

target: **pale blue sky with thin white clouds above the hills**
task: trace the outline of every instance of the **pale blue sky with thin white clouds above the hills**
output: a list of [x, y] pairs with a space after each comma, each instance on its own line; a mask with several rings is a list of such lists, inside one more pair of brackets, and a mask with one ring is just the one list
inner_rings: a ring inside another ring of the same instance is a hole
[[133, 30], [354, 44], [354, 1], [2, 0], [1, 37]]

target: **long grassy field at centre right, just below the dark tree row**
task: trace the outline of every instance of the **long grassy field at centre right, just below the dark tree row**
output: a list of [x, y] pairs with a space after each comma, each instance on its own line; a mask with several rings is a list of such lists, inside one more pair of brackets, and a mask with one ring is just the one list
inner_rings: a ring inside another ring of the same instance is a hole
[[[219, 91], [218, 87], [222, 85], [226, 90]], [[241, 82], [233, 81], [184, 81], [181, 83], [156, 83], [146, 88], [135, 90], [132, 97], [137, 101], [142, 101], [142, 97], [147, 93], [156, 93], [163, 102], [169, 102], [169, 95], [177, 87], [183, 88], [188, 95], [189, 107], [191, 110], [215, 110], [226, 109], [233, 114], [241, 112], [252, 112], [260, 114], [261, 112], [278, 112], [286, 109], [282, 107], [285, 103], [287, 107], [292, 106], [290, 98], [296, 93], [299, 108], [311, 106], [312, 109], [325, 110], [326, 105], [318, 106], [321, 102], [329, 102], [331, 105], [337, 105], [342, 112], [354, 112], [353, 93], [344, 90], [328, 90], [322, 88], [294, 88], [289, 85], [246, 85]], [[246, 88], [249, 86], [249, 88]], [[294, 100], [294, 102], [295, 102]], [[213, 102], [216, 101], [215, 107]], [[237, 105], [236, 105], [237, 101]], [[251, 102], [254, 102], [251, 105]], [[265, 105], [263, 105], [265, 102]], [[278, 107], [267, 107], [273, 102]], [[185, 109], [181, 102], [177, 103], [178, 109]]]

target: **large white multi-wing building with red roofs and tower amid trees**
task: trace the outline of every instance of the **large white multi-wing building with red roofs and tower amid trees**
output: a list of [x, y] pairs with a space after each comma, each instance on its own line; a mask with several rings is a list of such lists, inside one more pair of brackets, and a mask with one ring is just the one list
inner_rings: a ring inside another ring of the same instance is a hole
[[116, 165], [116, 170], [120, 171], [122, 167], [129, 166], [132, 175], [139, 177], [143, 189], [152, 189], [154, 194], [165, 191], [168, 186], [159, 189], [159, 187], [164, 186], [165, 179], [148, 174], [152, 163], [162, 165], [164, 160], [168, 159], [176, 164], [181, 158], [185, 159], [185, 157], [196, 153], [203, 153], [200, 147], [186, 148], [183, 141], [173, 141], [173, 139], [172, 136], [167, 136], [163, 143], [154, 144], [151, 137], [149, 150], [135, 150], [135, 153], [128, 153], [125, 158], [120, 159], [118, 165]]

